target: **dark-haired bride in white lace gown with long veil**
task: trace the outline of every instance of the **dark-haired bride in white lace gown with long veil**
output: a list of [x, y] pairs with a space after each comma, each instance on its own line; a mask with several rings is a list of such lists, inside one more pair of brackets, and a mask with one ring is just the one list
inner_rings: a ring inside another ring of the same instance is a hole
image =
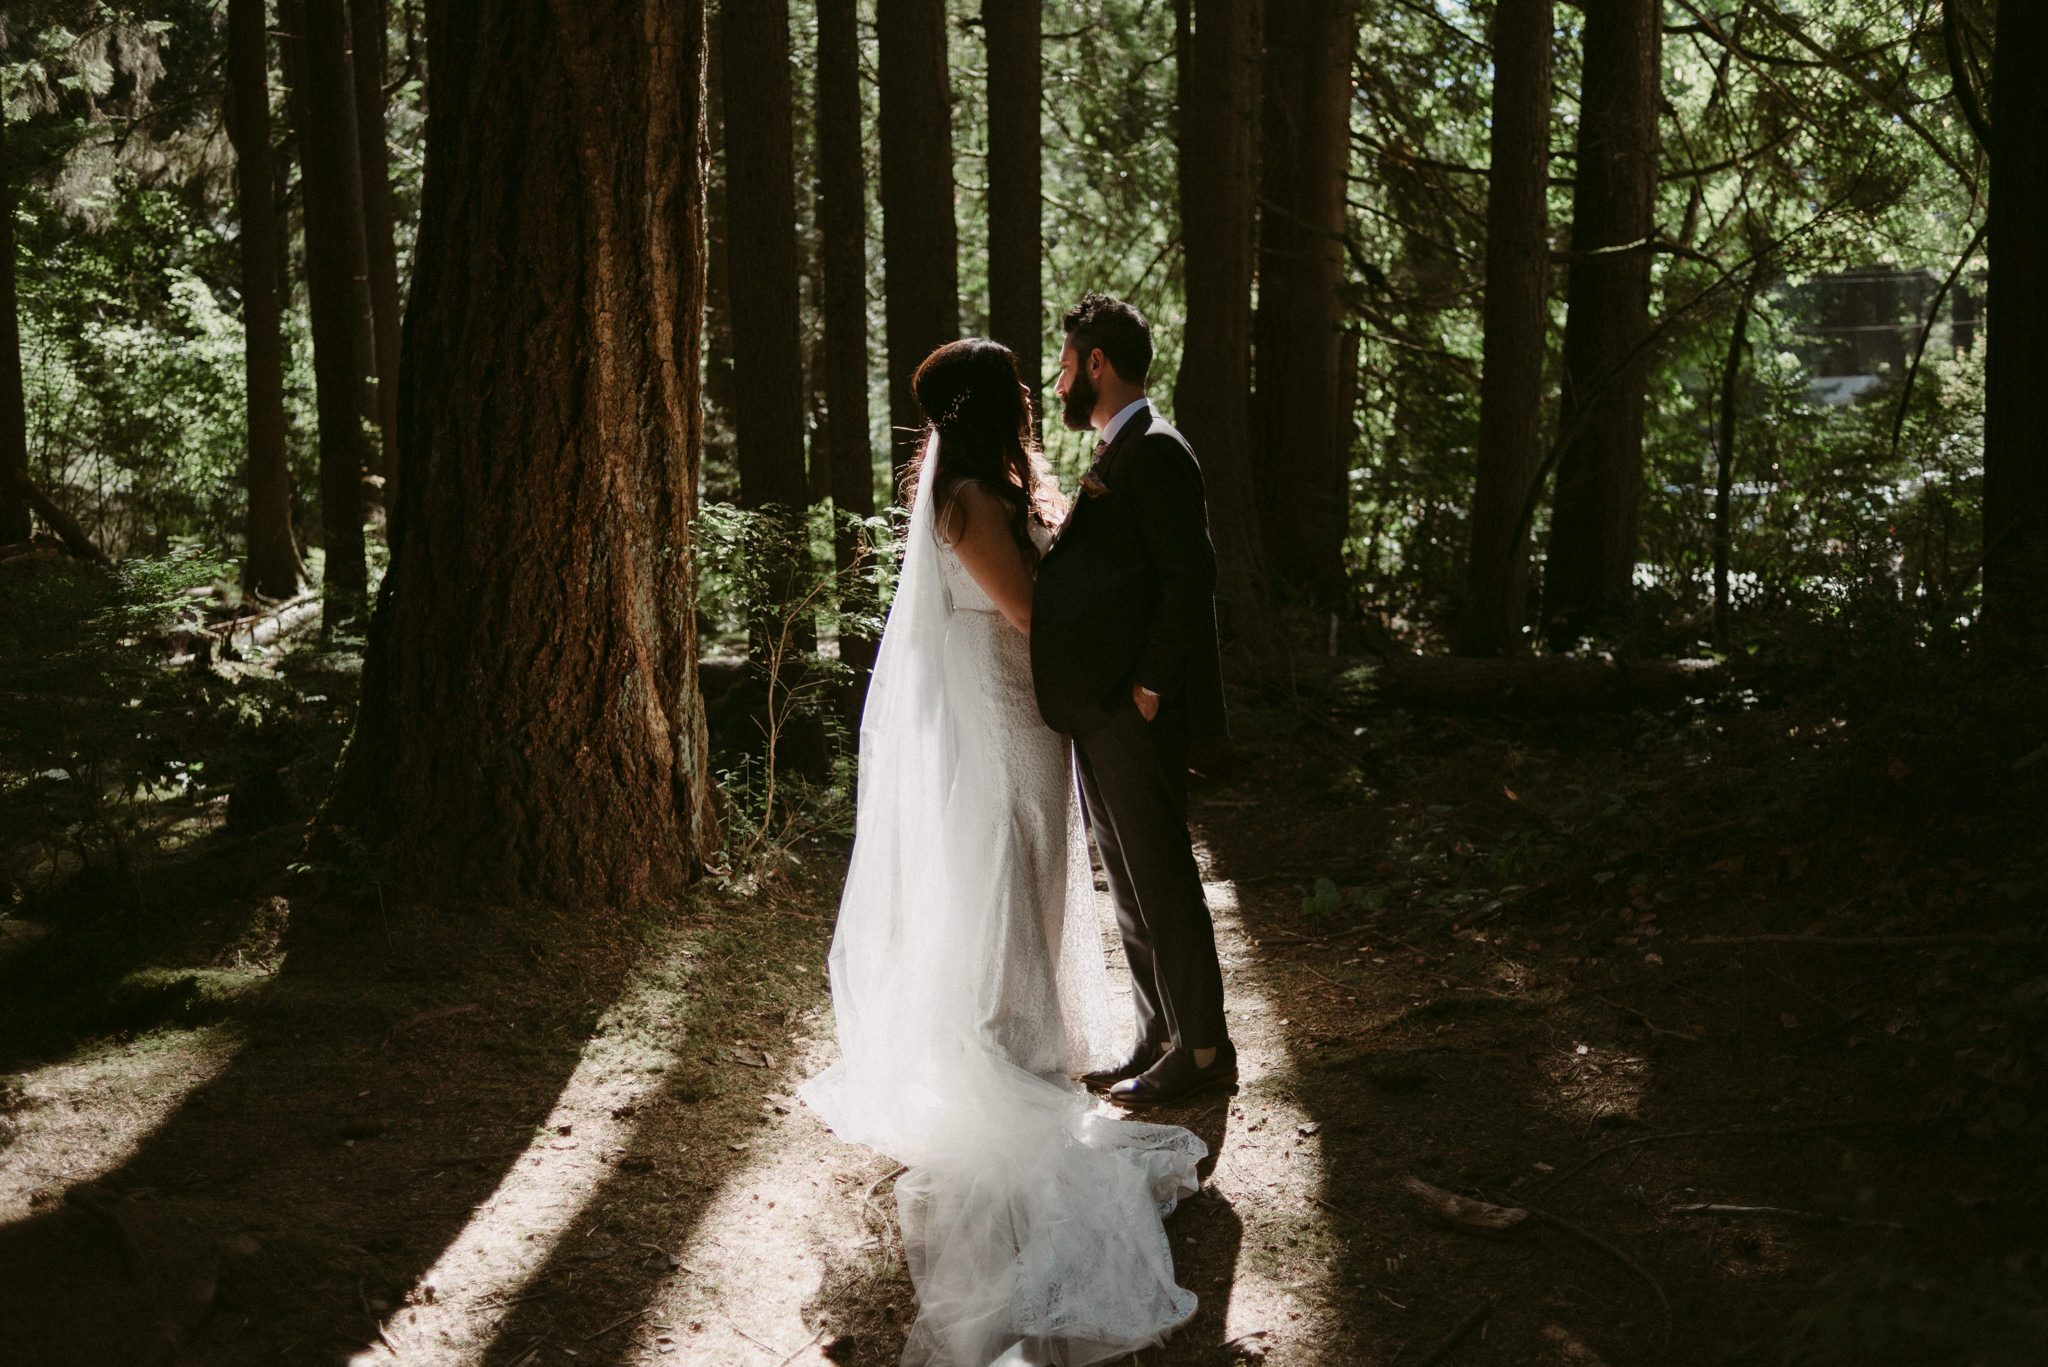
[[1063, 500], [1010, 348], [911, 381], [928, 416], [903, 570], [860, 719], [831, 941], [840, 1062], [801, 1096], [909, 1170], [909, 1367], [1083, 1367], [1194, 1316], [1161, 1219], [1198, 1137], [1092, 1111], [1118, 1058], [1071, 750], [1032, 699], [1030, 600]]

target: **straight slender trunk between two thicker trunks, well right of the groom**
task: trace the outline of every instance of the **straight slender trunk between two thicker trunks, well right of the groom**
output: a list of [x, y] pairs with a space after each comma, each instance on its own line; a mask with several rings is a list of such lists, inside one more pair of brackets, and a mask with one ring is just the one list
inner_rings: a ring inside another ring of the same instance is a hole
[[1550, 0], [1501, 0], [1493, 12], [1485, 369], [1458, 633], [1458, 654], [1466, 656], [1518, 652], [1528, 603], [1522, 504], [1542, 465], [1542, 363], [1550, 324]]

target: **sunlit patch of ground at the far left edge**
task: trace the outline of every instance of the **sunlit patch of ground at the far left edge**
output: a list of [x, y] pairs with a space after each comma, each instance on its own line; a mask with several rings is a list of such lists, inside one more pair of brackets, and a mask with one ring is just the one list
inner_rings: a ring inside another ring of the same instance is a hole
[[0, 1224], [115, 1172], [242, 1043], [227, 1025], [156, 1031], [0, 1078]]

